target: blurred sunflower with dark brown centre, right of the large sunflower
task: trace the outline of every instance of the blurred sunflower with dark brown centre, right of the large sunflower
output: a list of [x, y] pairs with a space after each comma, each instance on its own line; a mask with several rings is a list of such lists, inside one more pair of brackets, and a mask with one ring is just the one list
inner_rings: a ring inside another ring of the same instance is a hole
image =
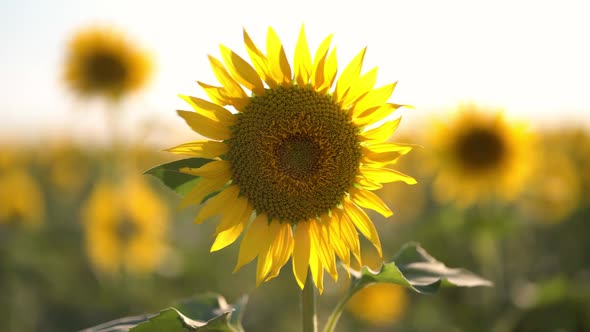
[[459, 111], [449, 124], [437, 124], [428, 137], [438, 168], [435, 198], [462, 206], [491, 198], [514, 199], [531, 174], [532, 139], [525, 126], [473, 105]]

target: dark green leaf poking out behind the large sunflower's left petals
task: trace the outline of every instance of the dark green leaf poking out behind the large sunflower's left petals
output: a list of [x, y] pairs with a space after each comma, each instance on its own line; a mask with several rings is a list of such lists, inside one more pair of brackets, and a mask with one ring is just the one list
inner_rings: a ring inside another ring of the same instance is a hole
[[181, 196], [184, 196], [199, 182], [201, 178], [199, 176], [181, 173], [180, 169], [183, 167], [198, 168], [212, 161], [212, 159], [204, 158], [181, 159], [171, 163], [155, 166], [145, 171], [145, 174], [149, 174], [158, 178], [168, 188], [174, 190]]

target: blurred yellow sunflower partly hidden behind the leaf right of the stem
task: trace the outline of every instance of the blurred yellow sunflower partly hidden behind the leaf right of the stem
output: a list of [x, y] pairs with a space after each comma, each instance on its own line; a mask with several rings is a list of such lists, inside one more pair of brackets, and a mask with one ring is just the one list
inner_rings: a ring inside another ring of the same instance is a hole
[[[379, 271], [383, 265], [383, 260], [375, 254], [363, 254], [363, 261], [375, 271]], [[402, 286], [375, 283], [355, 293], [348, 300], [346, 310], [367, 324], [385, 326], [402, 318], [408, 301], [408, 295]]]

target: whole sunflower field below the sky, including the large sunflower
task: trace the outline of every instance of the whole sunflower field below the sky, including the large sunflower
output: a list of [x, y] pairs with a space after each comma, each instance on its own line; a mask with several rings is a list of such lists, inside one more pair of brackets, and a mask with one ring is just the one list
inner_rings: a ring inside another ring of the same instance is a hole
[[244, 28], [139, 134], [157, 57], [73, 33], [69, 116], [106, 129], [0, 134], [0, 331], [590, 332], [588, 126], [421, 113], [310, 30]]

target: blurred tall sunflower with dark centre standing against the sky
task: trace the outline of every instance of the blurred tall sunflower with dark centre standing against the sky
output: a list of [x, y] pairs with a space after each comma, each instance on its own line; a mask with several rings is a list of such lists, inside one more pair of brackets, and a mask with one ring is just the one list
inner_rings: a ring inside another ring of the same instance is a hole
[[143, 87], [151, 74], [147, 54], [107, 27], [78, 32], [67, 49], [64, 80], [79, 95], [114, 100]]

